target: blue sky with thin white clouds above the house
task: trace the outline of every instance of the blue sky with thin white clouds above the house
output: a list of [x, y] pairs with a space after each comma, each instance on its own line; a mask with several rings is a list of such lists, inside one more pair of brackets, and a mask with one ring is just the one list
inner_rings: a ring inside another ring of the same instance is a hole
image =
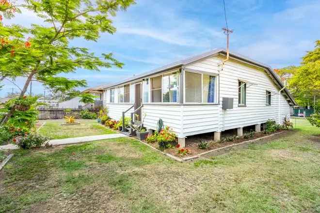
[[[230, 50], [273, 68], [298, 65], [320, 39], [320, 0], [225, 0], [225, 5], [228, 26], [234, 30]], [[71, 45], [87, 47], [96, 55], [112, 52], [125, 63], [123, 69], [78, 70], [65, 76], [86, 79], [88, 86], [108, 84], [225, 46], [222, 0], [137, 0], [112, 19], [115, 34], [103, 33], [98, 42], [77, 39]], [[41, 24], [29, 11], [3, 22]], [[20, 87], [22, 83], [16, 79]], [[18, 91], [6, 81], [0, 96], [12, 87]], [[32, 91], [43, 93], [43, 88], [34, 82]]]

